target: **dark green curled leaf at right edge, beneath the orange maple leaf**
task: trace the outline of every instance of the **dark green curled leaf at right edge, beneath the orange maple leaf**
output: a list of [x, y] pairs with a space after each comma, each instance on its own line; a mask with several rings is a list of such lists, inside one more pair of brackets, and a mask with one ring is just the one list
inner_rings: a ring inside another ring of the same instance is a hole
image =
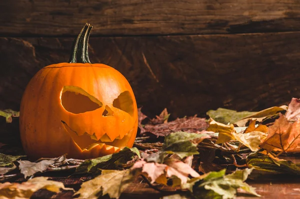
[[261, 153], [250, 154], [246, 159], [246, 165], [261, 171], [300, 175], [300, 165], [274, 159]]

